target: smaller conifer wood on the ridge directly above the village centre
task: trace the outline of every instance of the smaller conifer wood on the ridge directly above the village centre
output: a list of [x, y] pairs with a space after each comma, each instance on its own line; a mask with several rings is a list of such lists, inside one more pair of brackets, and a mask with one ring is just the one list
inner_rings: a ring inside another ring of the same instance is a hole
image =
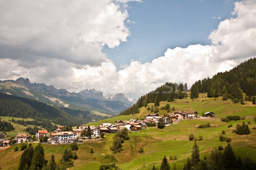
[[[149, 92], [146, 95], [141, 96], [137, 103], [134, 104], [132, 107], [122, 111], [119, 115], [129, 115], [131, 113], [139, 113], [141, 107], [147, 107], [148, 103], [157, 103], [159, 106], [159, 102], [161, 101], [168, 101], [172, 102], [174, 99], [183, 99], [187, 97], [187, 84], [183, 83], [169, 83], [161, 85], [156, 90]], [[156, 104], [156, 105], [157, 105]]]

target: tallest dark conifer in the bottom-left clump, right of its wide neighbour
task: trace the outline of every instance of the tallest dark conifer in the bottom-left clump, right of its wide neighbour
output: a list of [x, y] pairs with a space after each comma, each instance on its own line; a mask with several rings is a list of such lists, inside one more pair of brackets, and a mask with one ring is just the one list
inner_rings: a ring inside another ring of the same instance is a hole
[[42, 169], [46, 161], [44, 159], [44, 148], [39, 143], [34, 150], [33, 157], [31, 160], [31, 166], [35, 167], [35, 169]]

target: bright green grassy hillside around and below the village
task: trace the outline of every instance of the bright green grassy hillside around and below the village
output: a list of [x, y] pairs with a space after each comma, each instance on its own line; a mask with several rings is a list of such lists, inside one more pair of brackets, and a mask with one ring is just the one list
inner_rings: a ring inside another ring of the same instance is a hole
[[[152, 166], [160, 167], [160, 163], [163, 156], [175, 156], [177, 160], [169, 160], [171, 167], [174, 162], [177, 169], [182, 169], [186, 159], [191, 156], [191, 150], [193, 142], [189, 141], [189, 134], [193, 133], [195, 138], [203, 136], [202, 141], [197, 141], [200, 149], [201, 157], [207, 156], [209, 152], [222, 145], [226, 146], [226, 142], [220, 142], [219, 136], [222, 130], [225, 130], [226, 134], [232, 139], [231, 145], [237, 156], [250, 158], [256, 161], [256, 122], [253, 121], [253, 114], [256, 113], [256, 107], [246, 103], [246, 105], [233, 104], [230, 100], [223, 101], [221, 98], [216, 100], [204, 97], [205, 94], [201, 94], [198, 99], [177, 99], [175, 103], [169, 103], [172, 107], [174, 104], [175, 111], [189, 111], [196, 110], [199, 114], [207, 111], [213, 111], [217, 117], [225, 117], [227, 115], [239, 115], [249, 116], [244, 120], [231, 121], [228, 123], [221, 122], [220, 119], [190, 119], [174, 123], [170, 127], [164, 129], [157, 129], [157, 127], [149, 127], [148, 129], [141, 130], [140, 132], [129, 133], [130, 139], [123, 144], [123, 151], [121, 153], [113, 154], [110, 150], [112, 146], [114, 134], [107, 134], [104, 142], [84, 142], [79, 145], [77, 151], [78, 160], [74, 161], [74, 167], [70, 170], [98, 170], [100, 164], [109, 162], [115, 162], [118, 167], [123, 170], [151, 170]], [[204, 100], [204, 101], [202, 101]], [[160, 102], [160, 107], [166, 105], [167, 102]], [[149, 104], [149, 105], [153, 105]], [[159, 107], [159, 108], [160, 108]], [[145, 116], [145, 114], [151, 113], [146, 108], [140, 108], [140, 113], [133, 115], [135, 118]], [[163, 115], [167, 113], [166, 110], [160, 110], [159, 114]], [[129, 120], [130, 115], [116, 116], [111, 119], [106, 119], [98, 122], [90, 123], [89, 125], [99, 125], [102, 122], [113, 123], [115, 120]], [[251, 122], [249, 124], [250, 135], [237, 135], [232, 133], [236, 124], [242, 122]], [[210, 122], [212, 127], [205, 129], [195, 128], [198, 125]], [[228, 125], [233, 127], [228, 128]], [[65, 148], [70, 148], [68, 144], [61, 145], [47, 145], [43, 144], [46, 159], [50, 160], [52, 153], [55, 155], [55, 160], [59, 163], [59, 159], [64, 152]], [[90, 153], [90, 147], [93, 148], [94, 153]], [[144, 153], [138, 153], [140, 147], [144, 148]], [[14, 152], [12, 148], [0, 152], [0, 167], [3, 170], [15, 170], [20, 159], [22, 151]], [[9, 158], [6, 155], [12, 155]], [[145, 158], [145, 168], [143, 168], [143, 158]]]

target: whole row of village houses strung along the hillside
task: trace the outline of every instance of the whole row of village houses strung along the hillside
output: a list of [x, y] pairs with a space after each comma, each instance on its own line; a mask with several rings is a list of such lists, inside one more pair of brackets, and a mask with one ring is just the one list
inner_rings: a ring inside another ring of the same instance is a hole
[[[178, 122], [181, 119], [195, 119], [197, 118], [196, 111], [177, 111], [174, 113], [170, 113], [167, 117], [161, 117], [158, 114], [147, 114], [146, 119], [144, 120], [134, 120], [131, 114], [131, 120], [123, 121], [116, 120], [114, 124], [111, 123], [102, 123], [99, 126], [90, 126], [91, 130], [91, 138], [95, 138], [100, 136], [100, 133], [116, 133], [119, 130], [127, 128], [130, 131], [142, 130], [149, 123], [154, 123], [157, 125], [159, 119], [163, 119], [165, 126], [170, 126], [172, 122]], [[200, 117], [200, 116], [199, 116]], [[214, 117], [214, 113], [207, 112], [204, 113], [204, 117]], [[71, 131], [63, 131], [65, 126], [59, 126], [53, 130], [53, 133], [50, 134], [51, 143], [60, 144], [60, 143], [72, 143], [78, 142], [78, 138], [81, 137], [82, 132], [87, 130], [86, 125], [79, 125], [77, 129], [72, 129]], [[3, 136], [3, 134], [0, 133]], [[35, 134], [36, 139], [44, 138], [47, 136], [49, 138], [49, 134], [47, 130], [38, 130]], [[31, 137], [27, 135], [27, 133], [18, 133], [15, 135], [16, 143], [29, 142]], [[0, 139], [0, 147], [1, 146], [9, 146], [11, 145], [11, 140], [9, 139]]]

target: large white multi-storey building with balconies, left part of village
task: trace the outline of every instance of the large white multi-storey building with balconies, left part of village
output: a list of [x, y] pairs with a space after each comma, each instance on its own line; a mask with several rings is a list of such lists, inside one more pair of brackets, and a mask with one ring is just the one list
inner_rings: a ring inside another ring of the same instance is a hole
[[78, 141], [76, 133], [73, 132], [57, 132], [52, 133], [52, 143], [72, 143]]

